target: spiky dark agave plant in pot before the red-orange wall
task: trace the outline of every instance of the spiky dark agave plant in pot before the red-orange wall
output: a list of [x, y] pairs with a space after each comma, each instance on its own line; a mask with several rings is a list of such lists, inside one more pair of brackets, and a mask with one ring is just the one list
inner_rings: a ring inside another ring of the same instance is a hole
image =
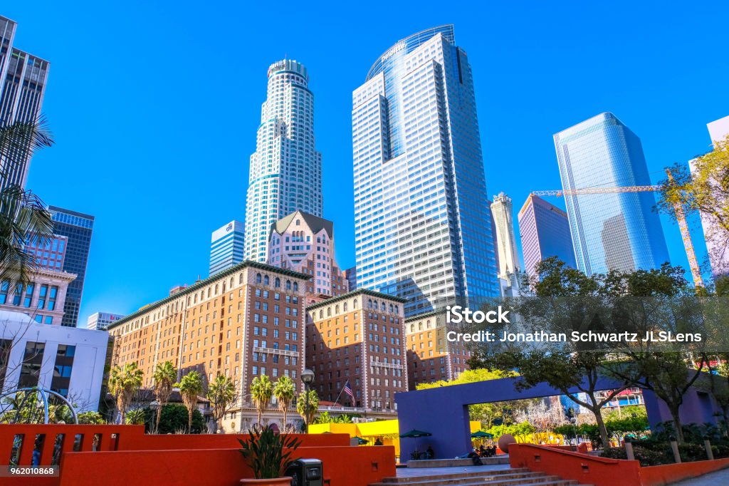
[[292, 452], [301, 445], [300, 439], [278, 433], [271, 427], [249, 431], [248, 439], [238, 439], [239, 451], [253, 469], [255, 479], [241, 479], [243, 485], [290, 486], [290, 477], [281, 477], [292, 463]]

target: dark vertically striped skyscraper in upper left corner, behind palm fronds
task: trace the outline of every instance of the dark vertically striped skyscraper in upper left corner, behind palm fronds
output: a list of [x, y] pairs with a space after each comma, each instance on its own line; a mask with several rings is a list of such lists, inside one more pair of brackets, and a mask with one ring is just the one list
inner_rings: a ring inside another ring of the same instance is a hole
[[[17, 24], [0, 16], [0, 126], [38, 119], [43, 106], [48, 61], [12, 47]], [[0, 178], [0, 190], [7, 185], [25, 187], [29, 150], [15, 150], [7, 159], [0, 158], [6, 177]]]

